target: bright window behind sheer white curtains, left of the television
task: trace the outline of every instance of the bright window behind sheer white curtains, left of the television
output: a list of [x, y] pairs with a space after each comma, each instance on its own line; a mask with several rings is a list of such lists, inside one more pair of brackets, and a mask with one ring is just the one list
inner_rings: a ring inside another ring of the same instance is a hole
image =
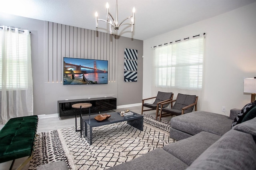
[[[0, 30], [0, 89], [26, 89], [28, 86], [28, 42], [22, 32]], [[4, 78], [5, 77], [5, 78]]]

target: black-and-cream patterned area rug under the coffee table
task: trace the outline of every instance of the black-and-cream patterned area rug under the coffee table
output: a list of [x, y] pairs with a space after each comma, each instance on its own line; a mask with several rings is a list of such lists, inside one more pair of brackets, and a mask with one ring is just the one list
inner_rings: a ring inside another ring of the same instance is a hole
[[[78, 127], [79, 128], [79, 127]], [[170, 125], [144, 115], [143, 131], [126, 122], [93, 128], [92, 145], [75, 127], [42, 132], [36, 138], [29, 169], [63, 160], [73, 170], [103, 170], [172, 143]]]

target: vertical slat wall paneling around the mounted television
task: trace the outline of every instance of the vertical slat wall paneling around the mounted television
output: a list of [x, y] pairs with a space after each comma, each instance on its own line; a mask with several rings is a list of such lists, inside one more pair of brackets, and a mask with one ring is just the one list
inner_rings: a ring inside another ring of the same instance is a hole
[[63, 57], [108, 60], [108, 81], [116, 82], [116, 35], [47, 21], [44, 33], [45, 83], [62, 83]]

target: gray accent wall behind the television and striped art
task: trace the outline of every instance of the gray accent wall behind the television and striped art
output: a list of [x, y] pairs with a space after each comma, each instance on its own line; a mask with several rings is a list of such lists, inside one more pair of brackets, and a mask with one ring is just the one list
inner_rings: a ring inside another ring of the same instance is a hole
[[[117, 105], [142, 99], [143, 41], [0, 13], [0, 25], [31, 32], [34, 115], [57, 113], [57, 101], [112, 96]], [[124, 48], [138, 50], [138, 81], [124, 82]], [[63, 57], [108, 60], [107, 85], [63, 85]]]

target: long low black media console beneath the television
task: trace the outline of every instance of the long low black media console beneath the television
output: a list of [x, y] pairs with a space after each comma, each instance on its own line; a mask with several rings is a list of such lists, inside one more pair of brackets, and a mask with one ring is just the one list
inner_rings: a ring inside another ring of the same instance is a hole
[[[116, 109], [116, 98], [114, 97], [98, 97], [91, 99], [75, 99], [75, 100], [61, 100], [58, 101], [58, 116], [61, 117], [76, 115], [76, 109], [72, 105], [76, 103], [91, 103], [91, 113], [100, 113], [102, 111], [109, 111]], [[82, 109], [82, 113], [89, 113], [89, 108]]]

